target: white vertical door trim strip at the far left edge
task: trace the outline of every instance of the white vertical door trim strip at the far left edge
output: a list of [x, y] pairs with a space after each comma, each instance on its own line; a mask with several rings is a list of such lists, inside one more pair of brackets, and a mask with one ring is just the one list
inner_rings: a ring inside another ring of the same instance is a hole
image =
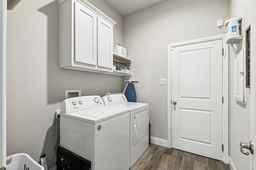
[[0, 0], [0, 167], [6, 167], [6, 16], [7, 0]]

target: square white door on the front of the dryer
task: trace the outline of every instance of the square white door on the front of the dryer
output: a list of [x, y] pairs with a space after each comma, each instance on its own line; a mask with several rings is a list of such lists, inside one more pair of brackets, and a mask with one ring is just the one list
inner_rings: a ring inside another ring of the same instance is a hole
[[133, 145], [148, 134], [148, 110], [133, 115]]

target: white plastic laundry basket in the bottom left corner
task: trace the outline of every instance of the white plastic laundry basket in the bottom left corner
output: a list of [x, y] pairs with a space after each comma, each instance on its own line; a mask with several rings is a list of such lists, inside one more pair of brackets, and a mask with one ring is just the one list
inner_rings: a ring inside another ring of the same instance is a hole
[[44, 170], [43, 166], [25, 153], [14, 154], [6, 158], [6, 160], [10, 159], [11, 162], [6, 165], [6, 170]]

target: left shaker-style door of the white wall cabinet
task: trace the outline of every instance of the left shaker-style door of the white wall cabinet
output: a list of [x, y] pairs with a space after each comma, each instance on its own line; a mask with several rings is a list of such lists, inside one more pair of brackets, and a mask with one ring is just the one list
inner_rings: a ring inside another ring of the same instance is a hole
[[97, 64], [97, 15], [75, 2], [75, 61]]

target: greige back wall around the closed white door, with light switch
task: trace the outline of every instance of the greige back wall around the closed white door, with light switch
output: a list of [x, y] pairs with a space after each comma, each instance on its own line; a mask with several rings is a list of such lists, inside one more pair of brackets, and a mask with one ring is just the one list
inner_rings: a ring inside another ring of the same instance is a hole
[[150, 104], [151, 135], [167, 139], [167, 45], [222, 34], [216, 20], [229, 19], [229, 1], [165, 1], [124, 17], [124, 47], [133, 59], [138, 102]]

